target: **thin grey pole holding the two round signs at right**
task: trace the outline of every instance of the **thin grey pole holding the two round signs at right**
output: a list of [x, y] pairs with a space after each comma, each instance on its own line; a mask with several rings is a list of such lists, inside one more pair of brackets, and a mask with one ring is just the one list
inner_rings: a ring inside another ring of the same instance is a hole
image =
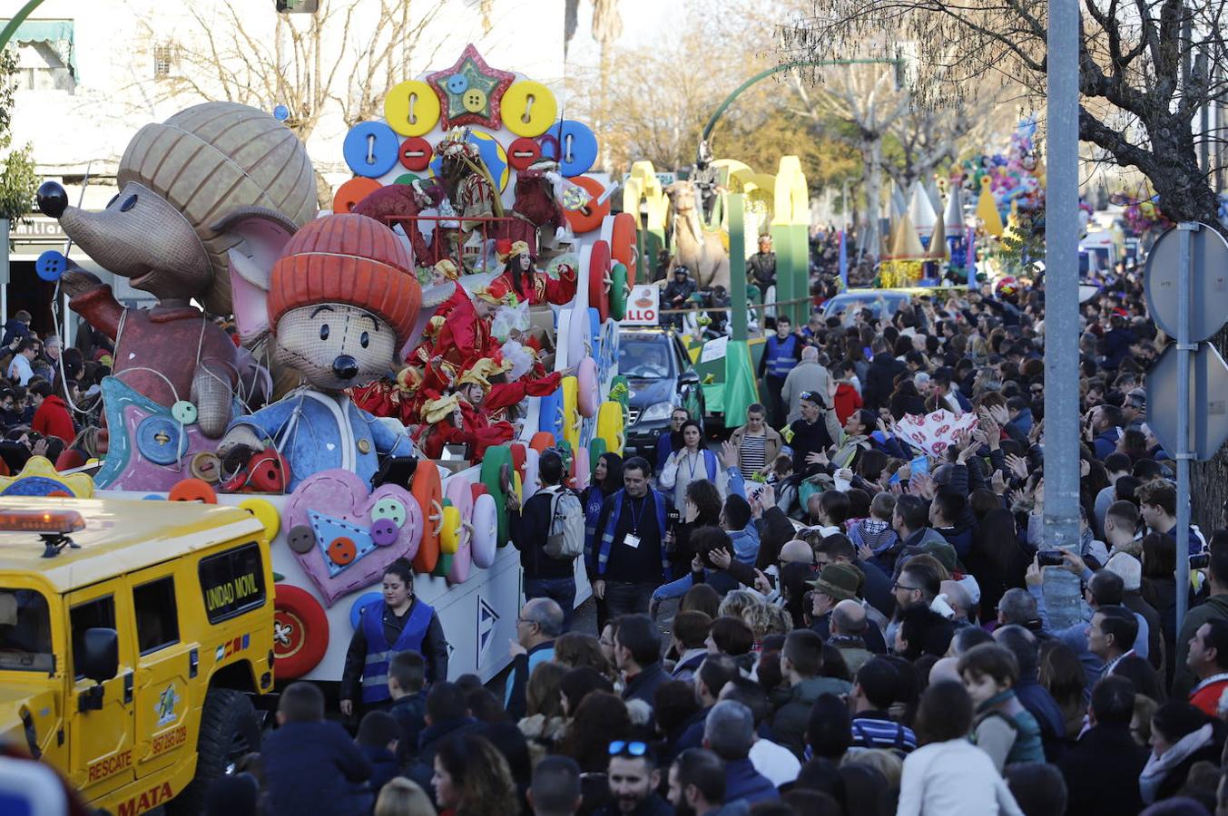
[[1176, 631], [1190, 604], [1190, 352], [1196, 346], [1190, 342], [1190, 244], [1201, 225], [1184, 221], [1178, 225], [1180, 237], [1180, 268], [1176, 283]]

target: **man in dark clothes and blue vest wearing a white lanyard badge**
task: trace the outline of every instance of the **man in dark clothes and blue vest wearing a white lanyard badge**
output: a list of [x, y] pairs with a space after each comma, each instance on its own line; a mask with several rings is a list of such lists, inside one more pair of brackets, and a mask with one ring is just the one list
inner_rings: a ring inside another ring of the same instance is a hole
[[[668, 501], [648, 486], [652, 466], [642, 456], [623, 464], [623, 490], [597, 517], [597, 563], [593, 594], [604, 600], [605, 617], [647, 614], [652, 591], [669, 580], [663, 539]], [[605, 620], [597, 622], [598, 629]]]

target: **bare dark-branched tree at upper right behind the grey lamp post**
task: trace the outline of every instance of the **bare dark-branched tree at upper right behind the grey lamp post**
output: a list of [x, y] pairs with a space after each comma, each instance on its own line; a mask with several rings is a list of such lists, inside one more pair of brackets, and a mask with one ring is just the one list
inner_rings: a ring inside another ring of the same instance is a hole
[[[1071, 2], [1074, 0], [1061, 0]], [[1174, 221], [1218, 218], [1221, 130], [1195, 128], [1228, 87], [1222, 0], [1082, 0], [1079, 137], [1121, 167], [1137, 168]], [[919, 47], [917, 96], [933, 104], [971, 83], [1019, 82], [1044, 94], [1047, 0], [812, 0], [807, 17], [780, 32], [780, 61], [860, 48], [867, 40]], [[949, 45], [958, 45], [958, 55]], [[944, 82], [935, 82], [944, 74]], [[1040, 106], [1036, 106], [1040, 108]], [[1217, 337], [1224, 347], [1224, 335]], [[1196, 469], [1195, 517], [1219, 526], [1228, 456]]]

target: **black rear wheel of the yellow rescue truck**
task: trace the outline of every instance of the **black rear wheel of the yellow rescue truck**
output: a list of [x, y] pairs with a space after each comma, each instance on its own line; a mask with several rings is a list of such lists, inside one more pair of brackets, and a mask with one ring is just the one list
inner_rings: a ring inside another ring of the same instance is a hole
[[260, 725], [252, 699], [233, 688], [210, 688], [200, 713], [196, 776], [166, 805], [167, 816], [198, 816], [209, 785], [244, 753], [260, 750]]

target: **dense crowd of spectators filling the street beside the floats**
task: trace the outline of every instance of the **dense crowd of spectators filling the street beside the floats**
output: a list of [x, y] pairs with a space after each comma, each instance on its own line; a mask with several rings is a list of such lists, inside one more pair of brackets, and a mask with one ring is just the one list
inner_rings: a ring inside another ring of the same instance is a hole
[[[1077, 550], [1043, 539], [1043, 281], [777, 319], [728, 441], [678, 409], [652, 456], [603, 454], [577, 495], [548, 450], [508, 498], [527, 601], [502, 693], [443, 680], [440, 632], [346, 695], [352, 736], [295, 683], [209, 812], [1223, 812], [1228, 530], [1174, 541], [1142, 389], [1165, 339], [1140, 281], [1115, 283], [1083, 309]], [[976, 423], [927, 456], [896, 423], [937, 410]], [[577, 520], [596, 627], [573, 616]]]

